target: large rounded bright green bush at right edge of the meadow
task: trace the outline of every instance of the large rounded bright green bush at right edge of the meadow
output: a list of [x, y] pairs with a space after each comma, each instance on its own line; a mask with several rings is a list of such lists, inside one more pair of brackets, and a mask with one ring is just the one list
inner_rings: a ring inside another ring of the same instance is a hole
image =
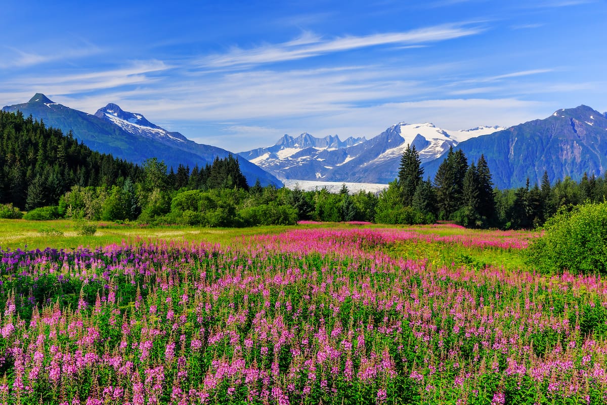
[[607, 203], [588, 203], [557, 213], [527, 249], [527, 261], [543, 271], [605, 273]]

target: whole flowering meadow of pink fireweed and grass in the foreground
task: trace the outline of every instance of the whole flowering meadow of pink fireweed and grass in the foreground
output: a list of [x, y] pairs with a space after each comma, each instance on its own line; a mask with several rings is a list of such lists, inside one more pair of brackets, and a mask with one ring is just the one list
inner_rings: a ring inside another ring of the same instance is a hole
[[0, 400], [605, 403], [607, 283], [535, 237], [0, 222]]

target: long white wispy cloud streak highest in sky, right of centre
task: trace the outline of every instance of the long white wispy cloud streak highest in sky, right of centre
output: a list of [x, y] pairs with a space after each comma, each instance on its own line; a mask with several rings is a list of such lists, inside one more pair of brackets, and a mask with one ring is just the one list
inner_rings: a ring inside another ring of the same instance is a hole
[[483, 32], [481, 27], [445, 24], [407, 32], [377, 33], [364, 36], [342, 36], [322, 39], [311, 33], [281, 44], [268, 44], [252, 49], [233, 48], [229, 52], [203, 58], [203, 67], [253, 66], [259, 64], [311, 58], [328, 53], [344, 52], [383, 45], [419, 45], [461, 38]]

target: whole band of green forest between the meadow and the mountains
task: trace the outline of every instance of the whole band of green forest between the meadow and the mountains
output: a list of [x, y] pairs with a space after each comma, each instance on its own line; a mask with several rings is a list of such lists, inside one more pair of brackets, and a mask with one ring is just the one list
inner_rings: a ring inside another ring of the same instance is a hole
[[142, 166], [91, 151], [72, 134], [20, 113], [0, 112], [0, 217], [178, 223], [202, 226], [289, 224], [297, 220], [433, 223], [478, 228], [534, 228], [559, 209], [602, 202], [605, 177], [499, 190], [481, 156], [450, 150], [434, 179], [424, 180], [418, 152], [407, 148], [398, 178], [378, 195], [250, 186], [237, 158], [203, 168]]

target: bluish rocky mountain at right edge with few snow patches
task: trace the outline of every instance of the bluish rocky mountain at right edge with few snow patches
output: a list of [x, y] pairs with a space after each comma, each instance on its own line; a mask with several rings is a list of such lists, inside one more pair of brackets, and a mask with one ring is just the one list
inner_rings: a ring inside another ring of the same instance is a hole
[[[529, 121], [491, 135], [459, 143], [469, 162], [484, 154], [500, 188], [541, 182], [544, 171], [551, 182], [566, 176], [580, 180], [603, 175], [607, 169], [607, 117], [588, 106], [560, 109], [543, 120]], [[427, 162], [425, 174], [434, 177], [443, 157]]]

